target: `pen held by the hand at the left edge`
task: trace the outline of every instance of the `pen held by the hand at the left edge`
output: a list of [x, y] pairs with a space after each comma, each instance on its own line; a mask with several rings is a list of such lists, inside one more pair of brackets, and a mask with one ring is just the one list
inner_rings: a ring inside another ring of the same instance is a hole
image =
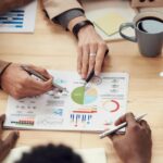
[[[29, 68], [29, 67], [26, 66], [26, 65], [21, 65], [21, 67], [22, 67], [25, 72], [27, 72], [29, 75], [35, 75], [36, 77], [40, 78], [40, 79], [43, 80], [43, 82], [47, 82], [47, 80], [48, 80], [47, 77], [42, 76], [41, 74], [39, 74], [38, 72], [36, 72], [36, 71], [32, 70], [32, 68]], [[55, 84], [54, 82], [52, 82], [52, 85], [53, 85], [54, 87], [57, 87], [57, 88], [59, 89], [59, 91], [61, 91], [61, 92], [62, 92], [62, 91], [66, 91], [66, 92], [67, 92], [66, 88], [61, 87], [60, 85]]]

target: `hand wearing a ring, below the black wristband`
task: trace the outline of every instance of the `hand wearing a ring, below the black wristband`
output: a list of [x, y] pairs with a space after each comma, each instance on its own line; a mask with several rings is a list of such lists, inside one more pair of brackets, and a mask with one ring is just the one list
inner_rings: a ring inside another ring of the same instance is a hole
[[79, 30], [77, 71], [83, 78], [86, 78], [93, 67], [95, 74], [100, 74], [106, 50], [106, 43], [96, 33], [93, 26], [88, 25]]

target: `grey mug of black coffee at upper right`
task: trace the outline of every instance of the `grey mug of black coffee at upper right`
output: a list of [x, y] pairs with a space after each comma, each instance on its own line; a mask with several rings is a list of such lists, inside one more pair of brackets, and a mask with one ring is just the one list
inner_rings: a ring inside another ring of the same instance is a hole
[[[123, 34], [123, 29], [128, 27], [135, 29], [135, 37]], [[138, 13], [131, 23], [120, 26], [120, 35], [129, 41], [138, 42], [143, 57], [158, 57], [163, 47], [163, 13], [154, 11]]]

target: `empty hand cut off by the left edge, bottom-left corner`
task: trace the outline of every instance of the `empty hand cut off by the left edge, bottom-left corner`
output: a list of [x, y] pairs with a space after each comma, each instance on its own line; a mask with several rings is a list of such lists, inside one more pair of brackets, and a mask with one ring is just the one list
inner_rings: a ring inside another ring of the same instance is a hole
[[4, 140], [2, 140], [2, 128], [4, 120], [5, 115], [0, 115], [0, 162], [5, 159], [20, 137], [18, 131], [11, 131], [9, 136]]

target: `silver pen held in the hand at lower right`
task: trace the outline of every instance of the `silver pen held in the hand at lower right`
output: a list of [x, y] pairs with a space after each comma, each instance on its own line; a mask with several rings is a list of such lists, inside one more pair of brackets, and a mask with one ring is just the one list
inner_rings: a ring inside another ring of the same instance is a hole
[[[142, 114], [142, 115], [136, 117], [135, 120], [136, 120], [137, 122], [139, 122], [139, 121], [142, 120], [146, 115], [147, 115], [147, 114]], [[106, 131], [100, 134], [99, 137], [102, 139], [102, 138], [104, 138], [104, 137], [106, 137], [106, 136], [109, 136], [109, 135], [111, 135], [111, 134], [116, 133], [117, 130], [120, 130], [120, 129], [122, 129], [122, 128], [124, 128], [124, 127], [126, 127], [126, 126], [127, 126], [127, 123], [125, 122], [125, 123], [123, 123], [123, 124], [116, 126], [115, 128], [113, 128], [113, 129], [111, 129], [111, 130], [106, 130]]]

